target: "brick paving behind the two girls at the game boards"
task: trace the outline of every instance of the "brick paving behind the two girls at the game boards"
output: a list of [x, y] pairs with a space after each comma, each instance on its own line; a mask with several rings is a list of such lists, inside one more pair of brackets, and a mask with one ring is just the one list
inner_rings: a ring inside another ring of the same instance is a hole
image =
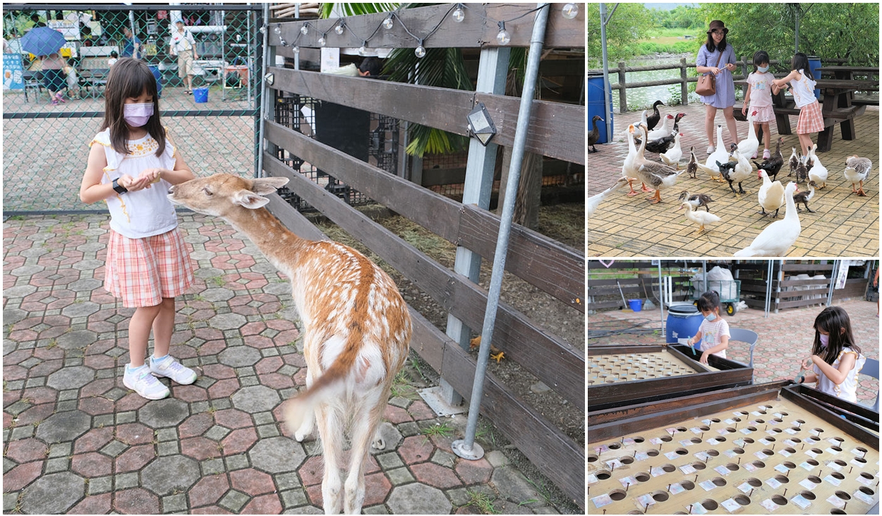
[[[836, 304], [848, 312], [852, 332], [855, 334], [855, 339], [858, 346], [861, 347], [863, 355], [878, 360], [879, 319], [876, 317], [876, 303], [847, 300]], [[755, 382], [776, 382], [796, 378], [800, 362], [809, 355], [811, 350], [811, 341], [814, 339], [811, 325], [820, 310], [823, 310], [821, 306], [781, 310], [778, 313], [772, 312], [768, 318], [765, 318], [763, 310], [745, 309], [727, 318], [731, 327], [744, 328], [759, 334], [757, 347], [753, 352], [753, 378]], [[661, 328], [661, 319], [662, 316], [658, 309], [639, 312], [630, 310], [603, 311], [587, 316], [587, 328], [589, 335], [593, 329], [611, 330], [635, 324], [640, 328]], [[589, 338], [587, 343], [588, 346], [591, 346], [633, 343], [662, 344], [664, 341], [664, 333], [661, 335], [622, 333], [597, 339]], [[750, 361], [750, 347], [742, 342], [730, 343], [729, 349], [726, 350], [726, 356], [738, 362], [748, 363]], [[878, 392], [878, 380], [865, 375], [860, 375], [859, 378], [858, 402], [872, 406]]]

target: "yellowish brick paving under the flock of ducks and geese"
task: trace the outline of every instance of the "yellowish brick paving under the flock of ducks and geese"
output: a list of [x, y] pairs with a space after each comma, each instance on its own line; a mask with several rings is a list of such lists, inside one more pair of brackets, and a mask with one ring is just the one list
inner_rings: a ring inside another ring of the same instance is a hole
[[[684, 161], [689, 161], [689, 147], [695, 146], [696, 156], [701, 163], [707, 159], [707, 141], [704, 130], [705, 108], [702, 104], [688, 107], [674, 106], [662, 108], [664, 113], [687, 113], [680, 121], [680, 131], [684, 133], [681, 144]], [[796, 116], [790, 123], [796, 128]], [[622, 163], [628, 153], [627, 141], [622, 131], [626, 123], [639, 121], [639, 113], [617, 116], [617, 141], [609, 145], [597, 146], [598, 153], [587, 156], [587, 195], [592, 196], [609, 188], [622, 174]], [[831, 256], [831, 257], [876, 257], [879, 253], [879, 180], [878, 180], [878, 107], [867, 108], [866, 113], [856, 119], [857, 138], [852, 141], [841, 139], [837, 126], [833, 138], [833, 149], [828, 153], [818, 153], [818, 158], [830, 171], [824, 190], [816, 191], [809, 204], [818, 213], [800, 213], [802, 233], [789, 249], [787, 256]], [[717, 123], [723, 123], [723, 141], [729, 145], [729, 131], [725, 127], [721, 113], [717, 113]], [[771, 124], [774, 142], [778, 138], [777, 128]], [[746, 138], [747, 123], [738, 123], [738, 134]], [[781, 153], [789, 160], [791, 147], [799, 150], [796, 134], [785, 136]], [[813, 138], [814, 139], [814, 138]], [[760, 146], [760, 153], [762, 152]], [[867, 197], [851, 193], [851, 184], [845, 180], [842, 171], [845, 158], [852, 154], [870, 158], [873, 162], [868, 181], [863, 190]], [[647, 153], [647, 159], [658, 160], [657, 154]], [[761, 161], [761, 160], [759, 160]], [[794, 178], [787, 177], [787, 164], [784, 173], [778, 175], [785, 186]], [[736, 199], [729, 190], [729, 183], [715, 183], [706, 175], [697, 179], [680, 176], [673, 189], [662, 191], [662, 203], [651, 205], [646, 200], [649, 194], [628, 197], [626, 190], [611, 195], [599, 207], [594, 217], [588, 221], [588, 256], [591, 257], [731, 257], [735, 251], [750, 245], [753, 238], [766, 228], [772, 219], [759, 215], [757, 190], [761, 182], [752, 176], [744, 183], [744, 190], [750, 194]], [[800, 186], [800, 188], [804, 188]], [[684, 217], [679, 210], [676, 198], [679, 192], [706, 193], [714, 198], [711, 213], [722, 218], [721, 223], [699, 236], [693, 235], [698, 229]], [[737, 185], [736, 185], [737, 190]], [[781, 210], [779, 218], [783, 216]]]

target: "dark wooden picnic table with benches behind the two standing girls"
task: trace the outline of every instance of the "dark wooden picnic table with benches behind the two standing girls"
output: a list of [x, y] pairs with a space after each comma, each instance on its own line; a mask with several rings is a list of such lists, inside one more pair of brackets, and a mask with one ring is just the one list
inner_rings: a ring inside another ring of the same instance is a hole
[[[736, 80], [735, 85], [747, 86], [747, 80]], [[855, 139], [855, 117], [863, 115], [867, 107], [863, 103], [861, 105], [852, 103], [854, 93], [878, 89], [878, 85], [878, 80], [818, 79], [815, 81], [815, 87], [820, 89], [824, 95], [821, 102], [824, 131], [818, 132], [817, 138], [819, 153], [826, 153], [833, 147], [833, 131], [837, 123], [840, 124], [842, 139]], [[796, 108], [793, 97], [785, 96], [784, 92], [785, 90], [781, 89], [778, 94], [772, 95], [775, 122], [778, 124], [778, 134], [793, 134], [789, 116], [798, 116], [799, 109]], [[740, 106], [735, 111], [736, 117], [741, 119]], [[758, 138], [760, 137], [758, 136]]]

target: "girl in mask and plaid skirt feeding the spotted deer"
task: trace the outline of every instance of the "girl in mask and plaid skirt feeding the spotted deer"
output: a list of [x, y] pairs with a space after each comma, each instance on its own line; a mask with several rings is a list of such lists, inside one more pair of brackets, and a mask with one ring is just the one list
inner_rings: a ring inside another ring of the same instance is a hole
[[[168, 187], [193, 179], [193, 173], [160, 123], [156, 79], [143, 61], [117, 61], [104, 96], [104, 122], [90, 144], [79, 198], [107, 203], [104, 288], [135, 309], [123, 385], [147, 400], [160, 400], [168, 396], [168, 387], [154, 377], [183, 385], [196, 381], [194, 370], [168, 355], [175, 297], [193, 283], [193, 265]], [[146, 363], [151, 330], [153, 355]]]

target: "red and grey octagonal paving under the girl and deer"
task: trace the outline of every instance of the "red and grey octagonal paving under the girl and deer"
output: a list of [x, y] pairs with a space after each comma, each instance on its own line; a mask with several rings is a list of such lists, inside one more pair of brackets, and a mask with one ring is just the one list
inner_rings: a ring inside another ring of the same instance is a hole
[[[280, 420], [306, 372], [290, 286], [224, 222], [181, 219], [198, 279], [178, 300], [171, 353], [199, 378], [158, 401], [123, 386], [133, 310], [101, 287], [107, 216], [4, 221], [4, 512], [321, 512], [318, 443], [297, 443]], [[579, 512], [490, 434], [484, 458], [457, 458], [465, 417], [439, 419], [398, 387], [365, 513], [480, 513], [482, 499], [504, 513]]]

